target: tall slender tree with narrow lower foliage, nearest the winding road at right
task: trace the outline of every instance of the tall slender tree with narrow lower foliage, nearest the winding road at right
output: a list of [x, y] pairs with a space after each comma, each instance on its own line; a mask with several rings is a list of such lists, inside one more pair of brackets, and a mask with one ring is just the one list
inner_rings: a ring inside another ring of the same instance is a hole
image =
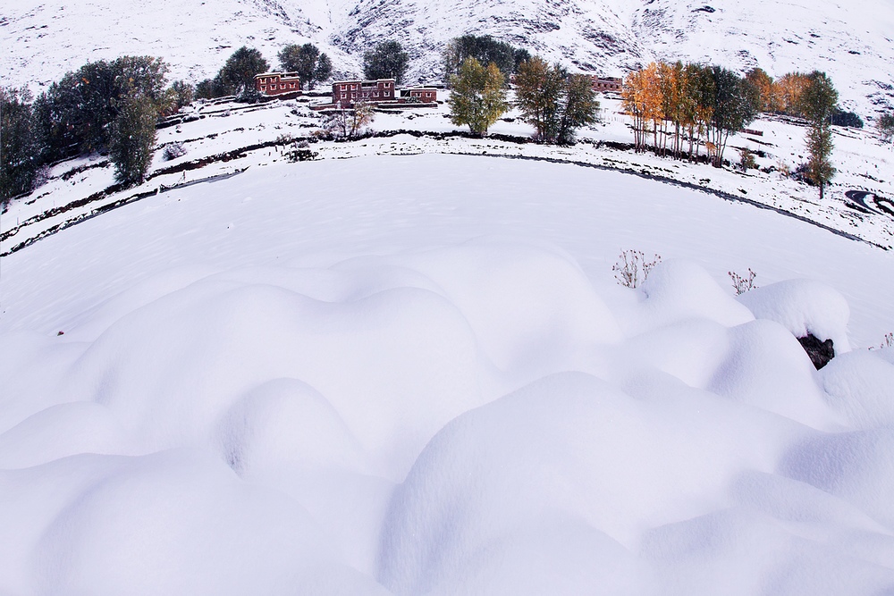
[[807, 172], [814, 184], [820, 187], [820, 200], [823, 189], [835, 175], [829, 158], [832, 153], [831, 116], [838, 105], [838, 91], [832, 85], [825, 72], [813, 71], [807, 76], [799, 101], [800, 112], [810, 122], [807, 132]]

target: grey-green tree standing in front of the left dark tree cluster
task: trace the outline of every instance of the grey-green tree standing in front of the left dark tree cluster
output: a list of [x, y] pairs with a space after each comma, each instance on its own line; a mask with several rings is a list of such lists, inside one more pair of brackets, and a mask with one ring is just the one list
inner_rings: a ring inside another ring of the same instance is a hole
[[150, 97], [134, 93], [124, 100], [114, 121], [109, 147], [115, 180], [126, 184], [145, 180], [156, 143], [157, 113]]

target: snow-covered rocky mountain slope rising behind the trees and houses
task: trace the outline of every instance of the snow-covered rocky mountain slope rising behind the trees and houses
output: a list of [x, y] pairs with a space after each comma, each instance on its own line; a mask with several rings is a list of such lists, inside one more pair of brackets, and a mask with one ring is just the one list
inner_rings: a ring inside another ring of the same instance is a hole
[[257, 46], [271, 63], [289, 43], [313, 42], [339, 74], [394, 38], [410, 80], [439, 80], [440, 50], [490, 34], [580, 71], [621, 75], [653, 59], [721, 63], [773, 75], [827, 71], [842, 103], [864, 116], [894, 105], [894, 4], [856, 0], [19, 0], [0, 8], [0, 76], [34, 90], [88, 60], [158, 55], [173, 77], [213, 74], [232, 50]]

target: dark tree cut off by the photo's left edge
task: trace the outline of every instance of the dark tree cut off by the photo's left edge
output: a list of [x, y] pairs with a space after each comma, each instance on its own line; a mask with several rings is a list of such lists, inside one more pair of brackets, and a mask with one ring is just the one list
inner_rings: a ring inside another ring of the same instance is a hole
[[0, 205], [29, 192], [40, 165], [28, 88], [0, 88]]

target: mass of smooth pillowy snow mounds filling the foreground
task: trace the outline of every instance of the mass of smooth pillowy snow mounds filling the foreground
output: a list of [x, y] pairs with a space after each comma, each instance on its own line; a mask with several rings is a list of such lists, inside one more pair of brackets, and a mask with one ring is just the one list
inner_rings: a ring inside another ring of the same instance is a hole
[[687, 261], [258, 250], [0, 338], [0, 592], [894, 588], [887, 355]]

